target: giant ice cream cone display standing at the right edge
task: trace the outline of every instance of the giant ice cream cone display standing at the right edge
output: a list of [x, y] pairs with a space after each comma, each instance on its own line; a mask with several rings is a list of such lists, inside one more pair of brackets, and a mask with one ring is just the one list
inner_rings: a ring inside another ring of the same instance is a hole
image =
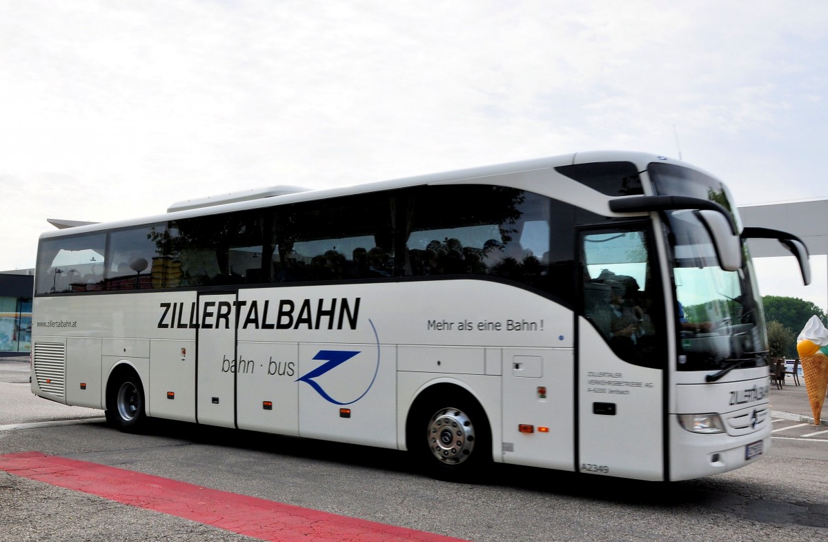
[[814, 423], [819, 425], [822, 404], [828, 391], [828, 329], [816, 315], [808, 320], [797, 336], [797, 352]]

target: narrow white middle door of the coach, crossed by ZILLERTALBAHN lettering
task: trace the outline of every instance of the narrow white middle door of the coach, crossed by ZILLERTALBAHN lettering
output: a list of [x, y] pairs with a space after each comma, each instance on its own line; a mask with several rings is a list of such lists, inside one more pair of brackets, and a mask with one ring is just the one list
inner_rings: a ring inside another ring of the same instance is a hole
[[235, 293], [199, 296], [196, 365], [198, 423], [236, 427]]

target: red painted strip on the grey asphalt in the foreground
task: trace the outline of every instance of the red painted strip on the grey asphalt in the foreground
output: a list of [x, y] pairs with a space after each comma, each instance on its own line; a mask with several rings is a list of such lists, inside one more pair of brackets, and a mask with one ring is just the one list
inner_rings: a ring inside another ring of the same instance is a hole
[[0, 455], [0, 470], [261, 540], [465, 542], [41, 452]]

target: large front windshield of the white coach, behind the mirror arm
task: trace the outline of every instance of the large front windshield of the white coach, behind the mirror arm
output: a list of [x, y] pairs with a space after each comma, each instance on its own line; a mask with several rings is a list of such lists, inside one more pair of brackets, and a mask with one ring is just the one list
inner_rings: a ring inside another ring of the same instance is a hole
[[[712, 177], [662, 164], [650, 171], [656, 191], [705, 197], [732, 210], [724, 186]], [[680, 182], [681, 181], [681, 182]], [[738, 271], [724, 271], [713, 241], [695, 211], [667, 213], [676, 284], [678, 370], [720, 370], [767, 364], [761, 304], [749, 258]]]

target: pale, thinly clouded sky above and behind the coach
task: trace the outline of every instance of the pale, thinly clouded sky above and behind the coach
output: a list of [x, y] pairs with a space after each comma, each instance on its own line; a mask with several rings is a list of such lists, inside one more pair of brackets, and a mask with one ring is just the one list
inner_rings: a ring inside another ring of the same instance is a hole
[[[588, 150], [826, 198], [826, 29], [816, 0], [0, 0], [0, 269], [46, 219]], [[811, 265], [758, 259], [760, 293], [825, 310]]]

